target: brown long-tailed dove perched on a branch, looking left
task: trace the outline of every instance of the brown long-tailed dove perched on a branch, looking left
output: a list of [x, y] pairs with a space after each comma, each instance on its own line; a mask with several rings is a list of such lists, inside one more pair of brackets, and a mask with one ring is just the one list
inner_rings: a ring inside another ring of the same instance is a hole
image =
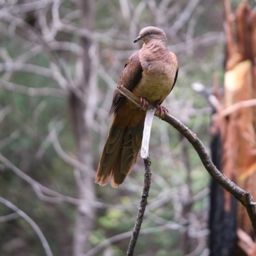
[[[118, 85], [140, 97], [141, 107], [148, 104], [156, 106], [161, 116], [163, 109], [166, 109], [161, 103], [177, 80], [177, 57], [168, 50], [166, 35], [162, 29], [153, 26], [143, 28], [134, 43], [140, 40], [144, 44], [125, 63]], [[95, 182], [104, 186], [111, 179], [111, 186], [118, 188], [136, 163], [146, 113], [115, 90], [109, 117], [113, 114]]]

